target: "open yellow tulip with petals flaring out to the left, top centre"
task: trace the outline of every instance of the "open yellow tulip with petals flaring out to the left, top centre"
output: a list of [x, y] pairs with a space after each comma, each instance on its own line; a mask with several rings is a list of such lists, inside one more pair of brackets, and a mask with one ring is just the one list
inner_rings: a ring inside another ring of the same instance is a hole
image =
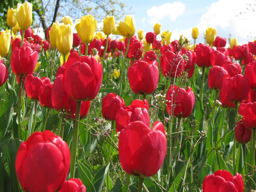
[[119, 21], [118, 26], [115, 27], [113, 34], [122, 35], [125, 37], [132, 37], [135, 34], [135, 19], [134, 15], [126, 15], [124, 22]]

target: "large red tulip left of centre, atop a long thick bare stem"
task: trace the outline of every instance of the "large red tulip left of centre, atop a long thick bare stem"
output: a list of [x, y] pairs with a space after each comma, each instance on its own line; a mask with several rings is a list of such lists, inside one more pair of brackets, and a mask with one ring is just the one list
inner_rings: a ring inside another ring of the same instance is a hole
[[71, 53], [64, 73], [67, 94], [77, 101], [90, 101], [96, 97], [102, 83], [102, 64], [93, 56], [79, 57]]

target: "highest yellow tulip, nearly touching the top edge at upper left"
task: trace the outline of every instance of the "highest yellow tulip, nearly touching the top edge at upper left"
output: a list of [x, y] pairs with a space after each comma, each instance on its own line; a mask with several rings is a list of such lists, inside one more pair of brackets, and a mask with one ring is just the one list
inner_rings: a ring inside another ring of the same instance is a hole
[[16, 9], [16, 19], [19, 24], [20, 29], [26, 30], [32, 24], [32, 3], [25, 3], [20, 4], [18, 3]]

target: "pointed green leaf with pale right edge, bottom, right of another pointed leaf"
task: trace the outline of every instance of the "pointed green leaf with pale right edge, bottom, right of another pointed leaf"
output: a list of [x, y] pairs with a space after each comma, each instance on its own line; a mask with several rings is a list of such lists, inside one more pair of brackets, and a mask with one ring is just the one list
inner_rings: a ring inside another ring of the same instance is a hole
[[95, 174], [95, 177], [93, 178], [93, 185], [96, 189], [96, 192], [101, 192], [102, 185], [109, 170], [109, 165], [110, 163], [101, 167], [101, 169], [98, 170], [98, 172]]

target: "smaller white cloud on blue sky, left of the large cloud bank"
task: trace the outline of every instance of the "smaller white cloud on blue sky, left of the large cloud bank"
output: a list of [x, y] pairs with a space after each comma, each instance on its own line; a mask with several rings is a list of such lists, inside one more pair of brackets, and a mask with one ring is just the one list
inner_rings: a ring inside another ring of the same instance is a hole
[[185, 4], [181, 2], [165, 3], [158, 7], [154, 6], [147, 10], [147, 15], [150, 18], [150, 23], [154, 24], [159, 20], [169, 16], [170, 20], [174, 21], [178, 16], [185, 11]]

